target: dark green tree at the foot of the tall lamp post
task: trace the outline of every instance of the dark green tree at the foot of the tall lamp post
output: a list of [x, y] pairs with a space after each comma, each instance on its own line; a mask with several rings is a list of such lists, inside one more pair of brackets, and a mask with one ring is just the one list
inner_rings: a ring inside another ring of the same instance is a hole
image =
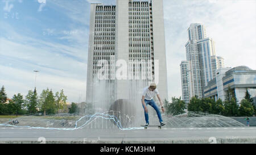
[[26, 106], [30, 114], [34, 114], [38, 111], [38, 94], [36, 93], [36, 88], [34, 91], [28, 91], [28, 94], [26, 96]]

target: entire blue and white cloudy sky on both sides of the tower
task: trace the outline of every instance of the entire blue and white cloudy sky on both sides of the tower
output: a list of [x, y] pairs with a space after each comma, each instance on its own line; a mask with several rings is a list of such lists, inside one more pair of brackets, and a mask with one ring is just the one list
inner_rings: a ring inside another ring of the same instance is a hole
[[[35, 85], [86, 98], [90, 3], [114, 0], [0, 0], [0, 86], [26, 96]], [[181, 96], [180, 62], [191, 23], [203, 23], [226, 67], [256, 70], [255, 0], [163, 0], [168, 98]], [[39, 70], [36, 75], [35, 72]]]

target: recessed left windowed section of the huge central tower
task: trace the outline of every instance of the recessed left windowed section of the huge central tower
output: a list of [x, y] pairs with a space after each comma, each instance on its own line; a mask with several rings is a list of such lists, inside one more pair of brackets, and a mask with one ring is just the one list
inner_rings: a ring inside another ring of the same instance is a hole
[[[116, 6], [104, 6], [98, 3], [91, 4], [86, 79], [86, 102], [88, 103], [109, 103], [114, 100], [114, 90], [111, 87], [115, 85], [113, 80], [113, 65], [116, 55], [115, 20]], [[106, 65], [102, 67], [102, 64]], [[110, 72], [108, 71], [108, 64], [111, 67]], [[106, 74], [99, 77], [99, 72]], [[105, 80], [100, 81], [98, 80], [99, 78]]]

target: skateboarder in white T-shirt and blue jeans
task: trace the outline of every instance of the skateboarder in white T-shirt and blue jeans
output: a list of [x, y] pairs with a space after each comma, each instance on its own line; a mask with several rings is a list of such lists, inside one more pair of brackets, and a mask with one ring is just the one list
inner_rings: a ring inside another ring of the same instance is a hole
[[158, 106], [156, 105], [155, 101], [153, 100], [153, 97], [155, 95], [158, 97], [159, 102], [161, 104], [162, 111], [164, 112], [163, 103], [162, 103], [162, 100], [160, 99], [158, 89], [156, 89], [156, 84], [151, 83], [149, 87], [148, 86], [144, 87], [143, 93], [142, 93], [142, 106], [144, 108], [144, 115], [145, 115], [145, 120], [146, 120], [146, 125], [144, 125], [145, 127], [147, 127], [149, 125], [147, 104], [149, 104], [151, 107], [153, 107], [155, 109], [156, 114], [158, 114], [158, 119], [159, 119], [160, 125], [163, 126], [166, 124], [163, 122], [160, 110], [159, 110]]

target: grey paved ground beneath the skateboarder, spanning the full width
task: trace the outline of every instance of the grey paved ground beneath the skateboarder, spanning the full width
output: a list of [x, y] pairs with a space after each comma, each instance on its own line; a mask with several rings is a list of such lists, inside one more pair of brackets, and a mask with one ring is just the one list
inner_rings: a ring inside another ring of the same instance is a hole
[[[39, 137], [44, 137], [39, 140]], [[75, 131], [0, 128], [0, 143], [256, 143], [256, 127]]]

